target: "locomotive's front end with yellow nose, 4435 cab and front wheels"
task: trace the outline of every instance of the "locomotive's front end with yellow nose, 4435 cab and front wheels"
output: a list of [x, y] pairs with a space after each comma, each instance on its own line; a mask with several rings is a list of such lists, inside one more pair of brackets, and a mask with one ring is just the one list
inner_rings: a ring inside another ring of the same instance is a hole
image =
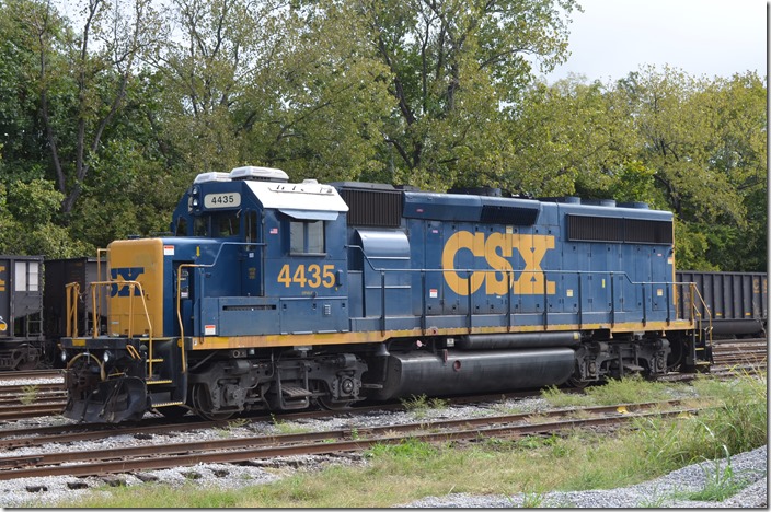
[[[365, 366], [355, 357], [309, 363], [310, 347], [271, 342], [306, 335], [332, 344], [349, 330], [346, 211], [333, 187], [289, 184], [278, 170], [198, 175], [174, 211], [174, 236], [110, 244], [108, 333], [62, 340], [76, 354], [66, 416], [120, 421], [192, 404], [221, 418], [267, 402], [304, 408], [331, 389], [342, 403], [357, 399]], [[261, 358], [284, 361], [263, 372]], [[232, 400], [242, 387], [254, 396]], [[105, 408], [107, 395], [117, 398]]]

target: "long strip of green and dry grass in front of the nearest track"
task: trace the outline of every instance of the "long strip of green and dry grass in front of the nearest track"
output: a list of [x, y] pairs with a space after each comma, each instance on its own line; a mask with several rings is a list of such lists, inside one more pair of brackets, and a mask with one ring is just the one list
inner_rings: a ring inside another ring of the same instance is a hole
[[[654, 384], [643, 386], [643, 397]], [[619, 429], [613, 435], [574, 430], [563, 435], [518, 440], [485, 440], [461, 446], [407, 440], [373, 446], [361, 463], [298, 470], [263, 485], [244, 480], [238, 489], [207, 490], [195, 482], [180, 488], [153, 485], [110, 488], [105, 492], [59, 507], [156, 508], [387, 508], [427, 496], [456, 492], [523, 493], [531, 507], [544, 505], [548, 490], [614, 488], [656, 478], [695, 462], [725, 457], [767, 442], [766, 377], [738, 382], [698, 382], [704, 403], [713, 409], [699, 416], [646, 419]], [[597, 399], [597, 398], [596, 398]], [[610, 398], [607, 398], [610, 399]], [[725, 467], [715, 468], [705, 493], [735, 492], [739, 481]], [[710, 489], [709, 489], [710, 488]], [[714, 489], [721, 489], [715, 492]], [[694, 494], [706, 496], [706, 494]], [[641, 507], [663, 505], [666, 497], [652, 497]], [[690, 498], [690, 497], [689, 497]], [[704, 499], [691, 498], [691, 499]], [[724, 499], [724, 498], [722, 498]]]

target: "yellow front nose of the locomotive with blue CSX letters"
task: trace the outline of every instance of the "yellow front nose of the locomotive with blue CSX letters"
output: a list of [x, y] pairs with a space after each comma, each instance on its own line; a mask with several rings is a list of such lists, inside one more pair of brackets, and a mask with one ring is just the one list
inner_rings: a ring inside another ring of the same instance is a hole
[[[110, 334], [162, 336], [163, 242], [160, 238], [116, 241], [110, 244], [108, 259], [111, 277], [116, 281], [108, 298]], [[143, 301], [138, 288], [129, 294], [128, 284], [122, 284], [126, 276], [139, 282]]]

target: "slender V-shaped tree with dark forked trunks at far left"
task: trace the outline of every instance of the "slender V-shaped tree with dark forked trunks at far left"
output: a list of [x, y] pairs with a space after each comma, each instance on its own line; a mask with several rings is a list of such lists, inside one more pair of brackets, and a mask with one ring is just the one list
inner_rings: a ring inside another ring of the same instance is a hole
[[36, 38], [39, 115], [67, 216], [105, 130], [125, 107], [138, 60], [158, 43], [159, 25], [150, 0], [89, 0], [78, 32], [50, 0], [31, 3], [26, 21]]

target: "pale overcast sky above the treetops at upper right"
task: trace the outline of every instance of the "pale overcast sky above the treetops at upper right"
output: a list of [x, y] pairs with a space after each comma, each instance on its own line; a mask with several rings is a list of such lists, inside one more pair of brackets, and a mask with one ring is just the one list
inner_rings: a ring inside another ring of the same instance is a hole
[[566, 63], [545, 74], [618, 80], [665, 63], [707, 78], [767, 74], [766, 0], [578, 0], [568, 25]]

